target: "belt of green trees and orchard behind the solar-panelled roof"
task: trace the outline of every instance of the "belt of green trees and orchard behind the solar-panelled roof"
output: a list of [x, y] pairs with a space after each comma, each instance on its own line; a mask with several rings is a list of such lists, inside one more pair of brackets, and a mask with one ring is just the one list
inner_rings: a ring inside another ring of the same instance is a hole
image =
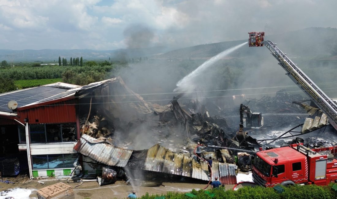
[[[74, 59], [76, 60], [76, 58]], [[36, 79], [36, 84], [43, 85], [45, 79], [62, 78], [62, 82], [75, 85], [88, 85], [113, 77], [117, 71], [126, 67], [124, 64], [104, 61], [96, 63], [88, 61], [83, 66], [24, 66], [15, 68], [3, 68], [0, 70], [0, 93], [14, 91], [20, 88], [14, 84], [14, 80]], [[40, 84], [41, 83], [41, 84]]]

